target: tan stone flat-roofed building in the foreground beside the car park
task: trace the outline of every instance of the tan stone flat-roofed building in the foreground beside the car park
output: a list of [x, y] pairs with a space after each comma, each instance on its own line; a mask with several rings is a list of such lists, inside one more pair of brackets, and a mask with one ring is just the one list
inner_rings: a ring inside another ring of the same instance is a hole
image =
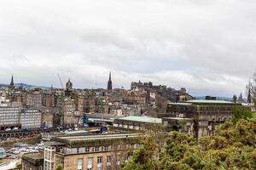
[[138, 133], [55, 137], [45, 144], [44, 170], [119, 169], [138, 146]]

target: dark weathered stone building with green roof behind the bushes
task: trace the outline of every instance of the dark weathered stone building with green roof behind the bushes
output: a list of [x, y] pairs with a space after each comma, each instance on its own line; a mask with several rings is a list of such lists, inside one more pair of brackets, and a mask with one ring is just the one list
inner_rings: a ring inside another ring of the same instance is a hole
[[159, 114], [169, 130], [178, 130], [201, 138], [214, 134], [220, 123], [232, 117], [237, 105], [223, 100], [194, 99], [184, 103], [169, 103], [166, 114]]

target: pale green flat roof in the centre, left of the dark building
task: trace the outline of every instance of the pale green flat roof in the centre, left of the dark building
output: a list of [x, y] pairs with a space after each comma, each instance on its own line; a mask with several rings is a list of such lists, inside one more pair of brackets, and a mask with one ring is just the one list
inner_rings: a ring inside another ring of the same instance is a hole
[[125, 117], [118, 118], [117, 120], [132, 121], [132, 122], [162, 123], [162, 119], [154, 118], [150, 116], [125, 116]]

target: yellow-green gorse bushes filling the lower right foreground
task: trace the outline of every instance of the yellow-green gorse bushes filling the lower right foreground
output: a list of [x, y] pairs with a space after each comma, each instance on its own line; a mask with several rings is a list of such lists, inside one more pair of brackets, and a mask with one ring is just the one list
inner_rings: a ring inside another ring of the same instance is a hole
[[219, 126], [214, 136], [199, 141], [186, 133], [172, 132], [158, 154], [154, 151], [157, 144], [148, 139], [151, 142], [135, 150], [123, 169], [256, 169], [256, 116], [240, 113], [236, 111], [232, 120]]

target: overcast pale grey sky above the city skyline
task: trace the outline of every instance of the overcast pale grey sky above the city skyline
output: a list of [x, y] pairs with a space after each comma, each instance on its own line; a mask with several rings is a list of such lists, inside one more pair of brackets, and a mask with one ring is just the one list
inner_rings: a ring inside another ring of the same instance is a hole
[[2, 0], [0, 82], [244, 94], [256, 69], [255, 0]]

